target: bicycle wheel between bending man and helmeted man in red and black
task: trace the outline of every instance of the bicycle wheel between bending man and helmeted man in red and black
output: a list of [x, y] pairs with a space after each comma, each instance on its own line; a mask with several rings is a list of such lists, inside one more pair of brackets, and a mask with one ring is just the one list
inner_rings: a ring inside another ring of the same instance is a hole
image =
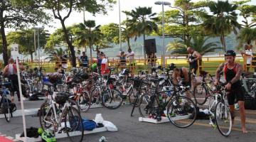
[[193, 97], [195, 97], [196, 104], [203, 105], [206, 103], [208, 90], [204, 85], [197, 85], [193, 89]]

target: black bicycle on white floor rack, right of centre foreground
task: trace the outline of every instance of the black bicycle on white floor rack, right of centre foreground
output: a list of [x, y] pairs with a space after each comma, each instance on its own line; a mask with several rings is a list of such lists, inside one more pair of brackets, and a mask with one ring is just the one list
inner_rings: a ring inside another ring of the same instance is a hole
[[[158, 84], [157, 82], [159, 82], [157, 79], [150, 81], [155, 82], [154, 84]], [[136, 80], [134, 84], [137, 84], [137, 87], [140, 88], [142, 84], [147, 83], [142, 82], [141, 80]], [[173, 84], [172, 81], [171, 84]], [[179, 128], [191, 126], [196, 121], [196, 105], [191, 99], [183, 96], [183, 93], [186, 92], [187, 89], [189, 89], [189, 86], [175, 87], [173, 85], [173, 87], [167, 91], [158, 91], [156, 86], [154, 94], [148, 98], [149, 102], [144, 103], [146, 97], [143, 95], [140, 97], [139, 113], [142, 117], [149, 116], [157, 121], [161, 121], [161, 116], [165, 115], [168, 117], [171, 124], [174, 124], [174, 126]], [[169, 99], [166, 99], [164, 102], [162, 94], [168, 95]], [[139, 95], [137, 95], [137, 97], [138, 96]], [[138, 99], [139, 97], [136, 99], [136, 101], [138, 101]]]

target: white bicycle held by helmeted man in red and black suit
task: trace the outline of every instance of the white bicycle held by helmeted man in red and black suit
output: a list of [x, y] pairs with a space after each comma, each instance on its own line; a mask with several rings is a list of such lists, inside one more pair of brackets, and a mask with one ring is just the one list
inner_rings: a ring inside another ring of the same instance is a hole
[[210, 95], [208, 106], [210, 124], [213, 128], [217, 127], [223, 136], [229, 136], [232, 129], [232, 116], [225, 97], [224, 84], [220, 84], [216, 87], [215, 92]]

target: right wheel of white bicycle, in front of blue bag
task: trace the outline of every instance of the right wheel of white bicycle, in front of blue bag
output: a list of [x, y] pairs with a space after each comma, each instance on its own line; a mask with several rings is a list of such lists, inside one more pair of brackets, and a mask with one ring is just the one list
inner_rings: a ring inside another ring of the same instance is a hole
[[82, 117], [78, 109], [75, 109], [75, 107], [68, 107], [68, 109], [65, 110], [64, 118], [65, 132], [70, 141], [82, 141], [84, 128], [82, 126]]

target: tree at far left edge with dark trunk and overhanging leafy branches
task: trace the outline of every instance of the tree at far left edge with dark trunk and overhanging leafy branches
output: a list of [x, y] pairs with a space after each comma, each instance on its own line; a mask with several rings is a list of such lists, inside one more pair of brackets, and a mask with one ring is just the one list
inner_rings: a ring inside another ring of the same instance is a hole
[[1, 0], [0, 1], [0, 33], [3, 45], [4, 65], [8, 64], [7, 40], [5, 28], [24, 28], [38, 23], [48, 23], [50, 18], [37, 1]]

